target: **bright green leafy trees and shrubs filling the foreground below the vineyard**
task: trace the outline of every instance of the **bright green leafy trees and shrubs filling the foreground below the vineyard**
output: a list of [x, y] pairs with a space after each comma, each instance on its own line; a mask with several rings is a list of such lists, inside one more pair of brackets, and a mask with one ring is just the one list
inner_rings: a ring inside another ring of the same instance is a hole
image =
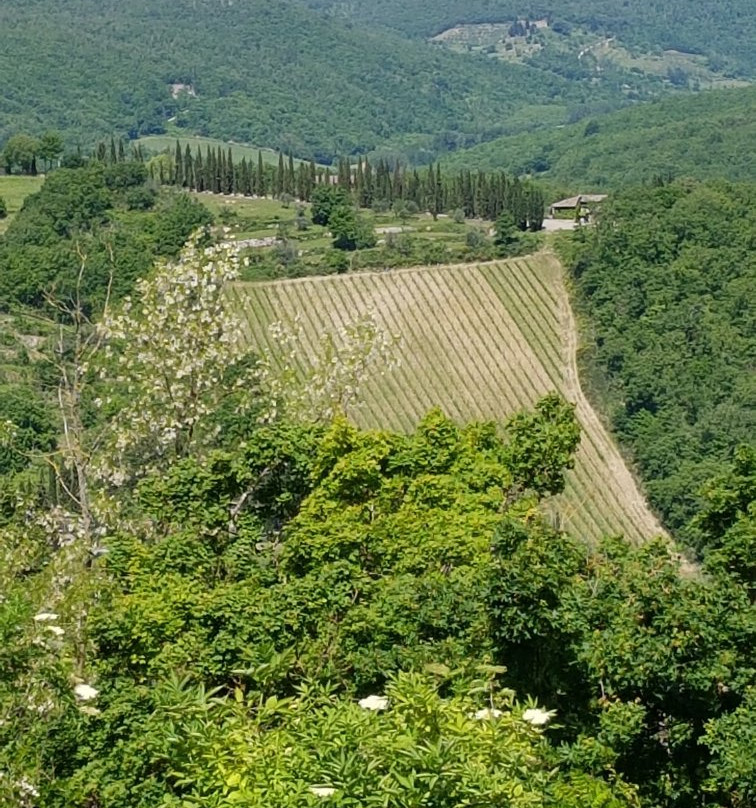
[[6, 795], [745, 805], [745, 590], [545, 527], [575, 439], [556, 399], [504, 441], [279, 423], [140, 482], [92, 566], [7, 528]]

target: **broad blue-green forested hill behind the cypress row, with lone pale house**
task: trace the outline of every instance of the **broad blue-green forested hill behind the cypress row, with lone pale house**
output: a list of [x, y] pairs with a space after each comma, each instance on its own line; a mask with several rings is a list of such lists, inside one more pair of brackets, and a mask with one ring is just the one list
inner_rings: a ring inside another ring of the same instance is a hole
[[330, 161], [391, 137], [446, 148], [558, 122], [588, 92], [293, 0], [5, 0], [0, 32], [0, 142], [52, 128], [87, 145], [176, 117], [193, 133]]

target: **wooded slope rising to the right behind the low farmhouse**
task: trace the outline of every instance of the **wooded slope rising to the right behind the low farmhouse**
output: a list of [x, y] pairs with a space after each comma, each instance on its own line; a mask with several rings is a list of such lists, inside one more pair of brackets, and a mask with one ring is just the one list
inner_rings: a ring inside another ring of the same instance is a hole
[[658, 176], [756, 180], [756, 88], [670, 98], [448, 158], [450, 167], [532, 173], [581, 190]]

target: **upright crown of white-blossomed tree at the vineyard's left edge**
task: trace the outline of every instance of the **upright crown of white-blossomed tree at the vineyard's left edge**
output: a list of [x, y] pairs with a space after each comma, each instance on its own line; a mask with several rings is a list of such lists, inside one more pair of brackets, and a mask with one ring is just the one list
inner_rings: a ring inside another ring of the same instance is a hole
[[123, 484], [160, 458], [182, 454], [220, 398], [223, 373], [243, 355], [243, 329], [228, 305], [238, 249], [189, 242], [175, 263], [159, 264], [133, 299], [100, 325], [101, 378], [125, 401], [114, 419], [101, 476]]

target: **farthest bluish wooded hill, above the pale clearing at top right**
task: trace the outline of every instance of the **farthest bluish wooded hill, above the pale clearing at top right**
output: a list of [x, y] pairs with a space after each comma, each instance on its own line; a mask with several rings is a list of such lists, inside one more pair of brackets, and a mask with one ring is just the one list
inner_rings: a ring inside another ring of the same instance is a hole
[[[511, 23], [549, 17], [618, 36], [636, 48], [687, 51], [753, 75], [756, 6], [750, 0], [309, 0], [336, 16], [431, 37], [460, 24]], [[716, 31], [716, 35], [712, 32]]]

